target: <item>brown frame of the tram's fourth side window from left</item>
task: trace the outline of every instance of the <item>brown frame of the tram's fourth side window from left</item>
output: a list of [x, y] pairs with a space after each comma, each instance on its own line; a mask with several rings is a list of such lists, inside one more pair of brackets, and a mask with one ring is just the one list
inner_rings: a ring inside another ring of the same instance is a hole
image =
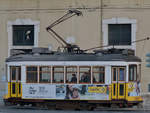
[[[67, 72], [67, 68], [71, 68], [71, 67], [74, 67], [74, 68], [76, 68], [76, 72], [73, 72], [73, 71], [70, 71], [70, 72]], [[65, 68], [65, 83], [66, 84], [77, 84], [77, 82], [78, 82], [78, 67], [77, 66], [66, 66], [66, 68]], [[77, 78], [77, 81], [74, 83], [74, 82], [67, 82], [67, 73], [75, 73], [76, 74], [76, 78]]]

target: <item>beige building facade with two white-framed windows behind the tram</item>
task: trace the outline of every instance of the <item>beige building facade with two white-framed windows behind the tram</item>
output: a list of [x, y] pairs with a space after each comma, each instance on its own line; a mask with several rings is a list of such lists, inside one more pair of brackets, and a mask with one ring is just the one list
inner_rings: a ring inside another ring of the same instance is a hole
[[55, 27], [66, 41], [82, 49], [114, 45], [135, 51], [142, 59], [142, 94], [150, 92], [150, 68], [146, 54], [150, 41], [132, 43], [150, 36], [149, 0], [1, 0], [0, 1], [0, 91], [5, 92], [5, 59], [12, 50], [31, 51], [32, 47], [60, 44], [46, 27], [69, 9], [82, 11]]

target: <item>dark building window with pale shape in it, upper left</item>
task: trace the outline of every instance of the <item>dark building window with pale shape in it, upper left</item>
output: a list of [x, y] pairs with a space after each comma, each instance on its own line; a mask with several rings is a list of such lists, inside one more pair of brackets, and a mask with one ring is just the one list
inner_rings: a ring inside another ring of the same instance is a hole
[[13, 46], [33, 46], [34, 25], [13, 25]]

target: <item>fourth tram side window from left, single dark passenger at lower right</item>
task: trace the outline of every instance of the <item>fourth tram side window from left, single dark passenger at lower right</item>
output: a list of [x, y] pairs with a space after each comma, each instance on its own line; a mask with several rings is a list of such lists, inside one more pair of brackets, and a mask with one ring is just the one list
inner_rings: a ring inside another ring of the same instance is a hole
[[66, 83], [77, 83], [77, 67], [66, 67]]

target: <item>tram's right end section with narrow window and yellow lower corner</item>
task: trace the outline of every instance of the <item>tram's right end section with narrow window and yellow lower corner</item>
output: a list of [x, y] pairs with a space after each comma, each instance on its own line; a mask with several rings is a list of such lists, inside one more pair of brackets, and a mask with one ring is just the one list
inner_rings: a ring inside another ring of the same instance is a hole
[[142, 102], [141, 97], [141, 64], [129, 64], [126, 83], [126, 99], [129, 103]]

